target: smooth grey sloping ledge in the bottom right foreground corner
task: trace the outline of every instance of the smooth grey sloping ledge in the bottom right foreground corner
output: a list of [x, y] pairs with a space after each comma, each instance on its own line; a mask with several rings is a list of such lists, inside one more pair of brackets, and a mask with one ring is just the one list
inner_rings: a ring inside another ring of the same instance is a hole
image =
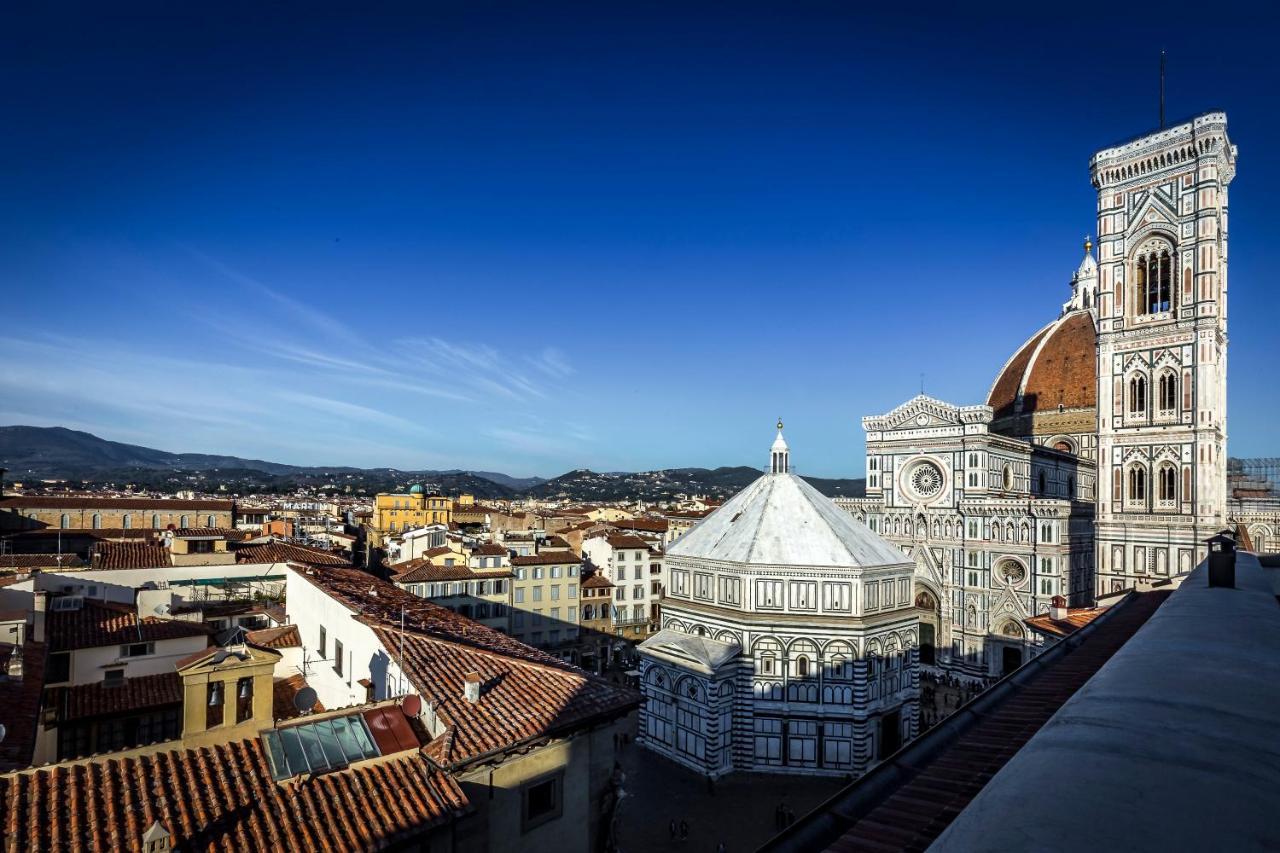
[[929, 849], [1280, 849], [1271, 575], [1201, 564]]

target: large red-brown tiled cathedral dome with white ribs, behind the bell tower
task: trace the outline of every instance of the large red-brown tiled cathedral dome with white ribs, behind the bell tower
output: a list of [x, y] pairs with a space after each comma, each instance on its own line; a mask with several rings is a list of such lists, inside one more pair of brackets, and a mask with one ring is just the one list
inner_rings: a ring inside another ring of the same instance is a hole
[[[1096, 411], [1098, 333], [1087, 309], [1068, 311], [1018, 348], [996, 377], [987, 405], [996, 432], [1034, 435], [1061, 432], [1039, 415]], [[1030, 424], [1025, 423], [1030, 419]], [[1021, 420], [1012, 425], [1011, 420]], [[1004, 425], [1009, 426], [1002, 429]], [[1029, 428], [1028, 428], [1029, 426]]]

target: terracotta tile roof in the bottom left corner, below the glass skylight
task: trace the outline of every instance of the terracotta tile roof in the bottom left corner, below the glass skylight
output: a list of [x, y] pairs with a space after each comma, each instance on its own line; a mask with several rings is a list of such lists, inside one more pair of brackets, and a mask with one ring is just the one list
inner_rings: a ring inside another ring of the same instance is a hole
[[159, 822], [175, 850], [375, 850], [468, 809], [416, 751], [275, 783], [260, 738], [104, 757], [0, 777], [9, 849], [136, 850]]

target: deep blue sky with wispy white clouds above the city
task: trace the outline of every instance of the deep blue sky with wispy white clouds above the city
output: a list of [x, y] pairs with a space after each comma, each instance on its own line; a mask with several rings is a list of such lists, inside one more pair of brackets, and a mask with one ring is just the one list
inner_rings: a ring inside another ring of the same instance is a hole
[[1280, 450], [1257, 13], [44, 5], [0, 33], [0, 423], [554, 475], [763, 465], [781, 414], [855, 476], [863, 415], [982, 402], [1056, 316], [1164, 46], [1240, 149], [1230, 452]]

